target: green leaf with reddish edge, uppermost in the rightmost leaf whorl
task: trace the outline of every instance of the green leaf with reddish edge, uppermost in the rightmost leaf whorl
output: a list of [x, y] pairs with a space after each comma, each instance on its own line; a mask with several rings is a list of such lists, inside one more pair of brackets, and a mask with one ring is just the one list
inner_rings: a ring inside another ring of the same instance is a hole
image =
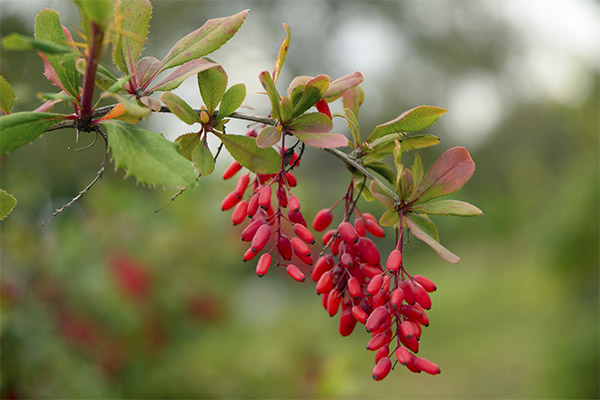
[[377, 125], [367, 139], [367, 142], [372, 142], [373, 140], [389, 135], [390, 133], [422, 131], [433, 125], [435, 121], [446, 112], [448, 112], [448, 110], [439, 107], [415, 107], [406, 111], [396, 119]]

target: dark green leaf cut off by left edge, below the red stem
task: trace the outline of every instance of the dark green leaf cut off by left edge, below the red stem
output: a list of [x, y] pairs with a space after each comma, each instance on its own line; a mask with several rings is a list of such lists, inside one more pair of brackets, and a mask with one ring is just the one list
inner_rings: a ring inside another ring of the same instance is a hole
[[64, 115], [40, 112], [19, 112], [0, 117], [0, 156], [32, 142]]

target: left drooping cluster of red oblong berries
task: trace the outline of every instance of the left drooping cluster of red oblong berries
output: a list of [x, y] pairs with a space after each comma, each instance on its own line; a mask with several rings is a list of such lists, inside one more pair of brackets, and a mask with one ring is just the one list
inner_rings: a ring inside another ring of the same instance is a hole
[[[256, 137], [256, 131], [249, 130], [246, 135]], [[282, 147], [279, 151], [280, 171], [275, 174], [243, 174], [238, 178], [235, 189], [223, 199], [221, 209], [234, 209], [231, 216], [234, 225], [242, 224], [246, 217], [249, 218], [241, 234], [243, 241], [250, 242], [250, 248], [244, 253], [244, 261], [254, 259], [267, 249], [256, 266], [259, 277], [269, 270], [273, 263], [272, 253], [277, 249], [275, 265], [285, 266], [292, 278], [303, 282], [304, 273], [296, 264], [313, 264], [309, 245], [314, 244], [315, 239], [300, 211], [300, 201], [291, 194], [291, 188], [297, 184], [291, 169], [299, 165], [300, 156], [293, 148]], [[223, 179], [232, 178], [241, 169], [242, 165], [234, 161], [223, 173]], [[245, 197], [248, 187], [252, 192]], [[273, 197], [276, 200], [275, 207]], [[287, 215], [284, 215], [286, 208]]]

